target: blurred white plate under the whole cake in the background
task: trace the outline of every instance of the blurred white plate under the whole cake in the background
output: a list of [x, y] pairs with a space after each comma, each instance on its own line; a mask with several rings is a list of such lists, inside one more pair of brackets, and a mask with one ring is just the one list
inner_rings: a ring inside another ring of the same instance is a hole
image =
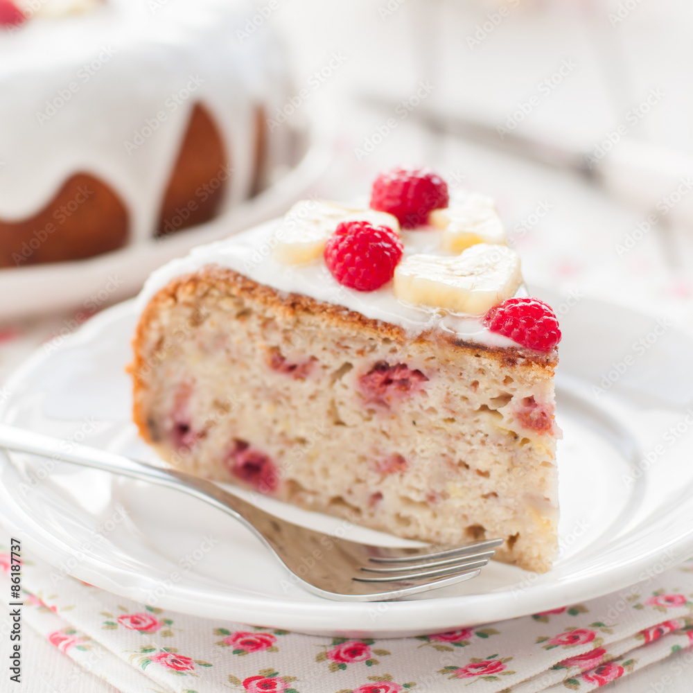
[[0, 270], [0, 320], [46, 314], [72, 308], [93, 308], [122, 301], [137, 293], [157, 267], [204, 245], [281, 216], [304, 197], [328, 166], [328, 128], [313, 127], [301, 161], [277, 183], [252, 200], [242, 202], [216, 219], [167, 238], [151, 238], [86, 260], [46, 263]]

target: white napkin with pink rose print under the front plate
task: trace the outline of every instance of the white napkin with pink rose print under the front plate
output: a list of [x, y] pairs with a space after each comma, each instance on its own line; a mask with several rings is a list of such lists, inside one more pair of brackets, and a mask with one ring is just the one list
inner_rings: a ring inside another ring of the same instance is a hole
[[[1, 533], [3, 594], [14, 574], [9, 550]], [[44, 639], [42, 660], [52, 652], [78, 665], [83, 687], [70, 692], [403, 693], [472, 685], [484, 693], [582, 693], [693, 645], [693, 560], [584, 604], [387, 640], [300, 635], [152, 608], [26, 555], [21, 586], [29, 642]], [[24, 685], [16, 690], [39, 690]]]

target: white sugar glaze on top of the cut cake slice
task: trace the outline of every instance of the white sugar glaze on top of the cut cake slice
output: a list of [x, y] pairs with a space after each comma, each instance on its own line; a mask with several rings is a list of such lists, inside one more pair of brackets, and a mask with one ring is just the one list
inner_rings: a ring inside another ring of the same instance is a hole
[[[403, 304], [395, 297], [392, 282], [376, 291], [360, 292], [338, 283], [322, 258], [305, 265], [277, 263], [272, 258], [272, 236], [281, 222], [281, 219], [275, 219], [227, 240], [202, 245], [194, 248], [188, 256], [164, 265], [151, 275], [141, 291], [137, 299], [139, 310], [143, 310], [152, 296], [175, 277], [214, 264], [229, 267], [282, 292], [345, 306], [371, 319], [399, 325], [410, 335], [439, 328], [459, 335], [466, 342], [489, 347], [519, 347], [507, 337], [490, 332], [479, 317], [443, 315], [432, 309]], [[439, 234], [433, 229], [403, 231], [405, 254], [438, 252]]]

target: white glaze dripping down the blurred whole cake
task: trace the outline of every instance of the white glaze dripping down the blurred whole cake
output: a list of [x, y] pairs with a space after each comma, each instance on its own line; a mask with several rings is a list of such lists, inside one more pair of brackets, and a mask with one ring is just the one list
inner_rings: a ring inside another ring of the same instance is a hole
[[[211, 112], [227, 146], [225, 209], [247, 197], [254, 109], [263, 104], [271, 114], [288, 94], [279, 44], [268, 26], [240, 39], [236, 32], [255, 12], [245, 0], [152, 7], [105, 0], [82, 15], [0, 29], [0, 218], [33, 216], [71, 175], [85, 172], [125, 202], [130, 242], [150, 238], [196, 103]], [[128, 152], [125, 143], [161, 113], [166, 119]], [[270, 138], [277, 163], [288, 157], [289, 137], [288, 128], [277, 128]]]

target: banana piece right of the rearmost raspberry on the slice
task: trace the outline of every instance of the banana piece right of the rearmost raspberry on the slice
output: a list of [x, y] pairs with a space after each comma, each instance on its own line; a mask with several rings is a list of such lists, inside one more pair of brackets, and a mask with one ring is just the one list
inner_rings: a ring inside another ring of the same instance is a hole
[[443, 229], [442, 245], [448, 252], [461, 253], [476, 243], [505, 245], [507, 241], [493, 200], [479, 193], [471, 193], [457, 207], [434, 209], [428, 222]]

